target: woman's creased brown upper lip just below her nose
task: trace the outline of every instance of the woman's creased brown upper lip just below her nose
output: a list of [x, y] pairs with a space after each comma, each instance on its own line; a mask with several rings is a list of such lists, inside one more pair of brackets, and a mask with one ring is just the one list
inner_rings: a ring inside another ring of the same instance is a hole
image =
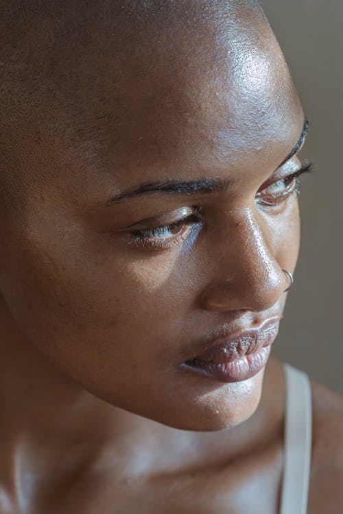
[[263, 319], [257, 327], [240, 328], [240, 330], [220, 329], [220, 336], [198, 345], [185, 359], [184, 363], [202, 361], [222, 364], [237, 360], [246, 354], [258, 352], [263, 346], [271, 345], [279, 331], [281, 315]]

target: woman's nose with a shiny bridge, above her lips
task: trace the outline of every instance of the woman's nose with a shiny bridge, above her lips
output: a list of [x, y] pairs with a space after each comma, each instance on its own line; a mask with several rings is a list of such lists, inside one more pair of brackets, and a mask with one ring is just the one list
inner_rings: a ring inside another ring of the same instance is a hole
[[[225, 237], [218, 234], [215, 278], [202, 293], [202, 308], [260, 312], [276, 304], [289, 277], [283, 271], [287, 249], [273, 242], [273, 230], [251, 210], [230, 216]], [[284, 262], [279, 264], [276, 256]]]

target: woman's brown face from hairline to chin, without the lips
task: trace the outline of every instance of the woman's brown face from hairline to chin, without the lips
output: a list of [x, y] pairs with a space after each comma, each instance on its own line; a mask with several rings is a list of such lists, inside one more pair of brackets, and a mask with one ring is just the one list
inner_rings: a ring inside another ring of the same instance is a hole
[[263, 19], [168, 30], [134, 51], [128, 38], [120, 56], [98, 38], [56, 86], [60, 110], [15, 125], [0, 288], [32, 352], [80, 386], [169, 426], [217, 430], [252, 415], [264, 369], [222, 383], [180, 365], [223, 330], [281, 316], [300, 162], [281, 163], [304, 115]]

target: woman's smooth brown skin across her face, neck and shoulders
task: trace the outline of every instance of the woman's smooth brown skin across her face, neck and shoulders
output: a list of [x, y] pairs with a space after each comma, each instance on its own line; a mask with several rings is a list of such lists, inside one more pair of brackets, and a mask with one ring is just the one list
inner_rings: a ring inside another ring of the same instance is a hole
[[[265, 19], [227, 4], [225, 17], [189, 2], [189, 25], [176, 3], [113, 42], [98, 4], [66, 10], [91, 45], [62, 38], [54, 99], [38, 89], [1, 122], [1, 514], [278, 511], [282, 364], [225, 385], [178, 369], [205, 333], [281, 315], [298, 256], [296, 195], [266, 208], [256, 194], [299, 167], [279, 168], [303, 110]], [[106, 206], [143, 182], [206, 177], [232, 186]], [[202, 230], [168, 250], [122, 230], [193, 206]], [[337, 514], [342, 399], [312, 393], [309, 514]]]

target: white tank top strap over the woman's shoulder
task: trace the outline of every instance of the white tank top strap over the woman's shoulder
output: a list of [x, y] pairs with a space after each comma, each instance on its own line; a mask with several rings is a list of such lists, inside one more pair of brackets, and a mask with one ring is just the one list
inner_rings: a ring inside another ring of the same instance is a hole
[[309, 377], [284, 363], [285, 467], [280, 514], [306, 514], [311, 468], [312, 401]]

